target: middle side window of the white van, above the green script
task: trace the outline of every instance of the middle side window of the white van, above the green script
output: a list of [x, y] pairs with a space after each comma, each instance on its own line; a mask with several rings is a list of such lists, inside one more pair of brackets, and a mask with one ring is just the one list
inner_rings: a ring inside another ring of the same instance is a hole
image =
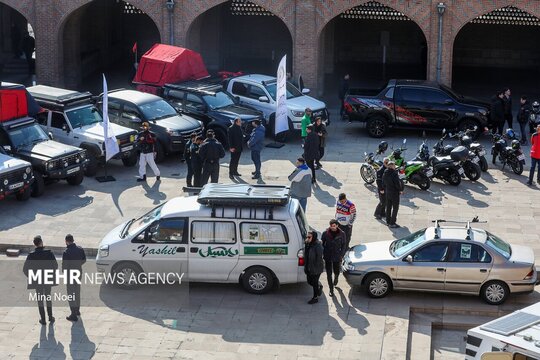
[[194, 244], [235, 244], [235, 224], [224, 221], [193, 221], [191, 242]]

